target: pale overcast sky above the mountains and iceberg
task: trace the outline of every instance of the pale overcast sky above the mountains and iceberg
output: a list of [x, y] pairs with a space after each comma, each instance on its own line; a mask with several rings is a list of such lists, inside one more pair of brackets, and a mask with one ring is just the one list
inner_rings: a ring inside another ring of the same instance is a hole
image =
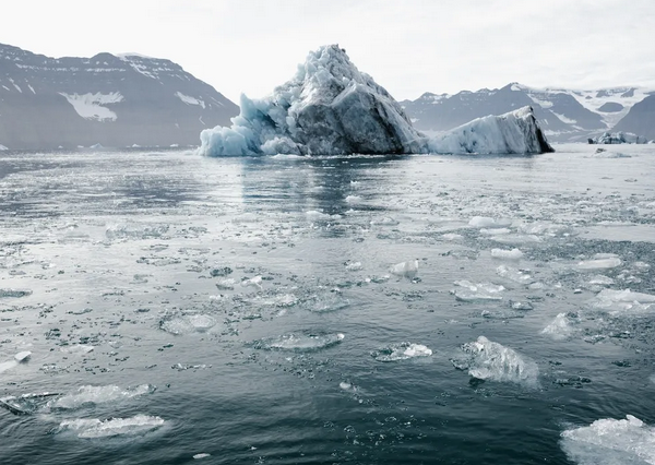
[[0, 43], [168, 58], [238, 103], [338, 43], [396, 99], [532, 86], [655, 87], [654, 0], [21, 0]]

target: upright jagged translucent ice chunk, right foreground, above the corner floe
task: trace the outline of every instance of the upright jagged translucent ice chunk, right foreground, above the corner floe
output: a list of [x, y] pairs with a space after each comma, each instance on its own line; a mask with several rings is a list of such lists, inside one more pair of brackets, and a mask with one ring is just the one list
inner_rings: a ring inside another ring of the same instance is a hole
[[537, 363], [509, 347], [479, 336], [476, 342], [464, 344], [462, 350], [472, 357], [467, 368], [473, 378], [520, 383], [529, 388], [538, 385]]

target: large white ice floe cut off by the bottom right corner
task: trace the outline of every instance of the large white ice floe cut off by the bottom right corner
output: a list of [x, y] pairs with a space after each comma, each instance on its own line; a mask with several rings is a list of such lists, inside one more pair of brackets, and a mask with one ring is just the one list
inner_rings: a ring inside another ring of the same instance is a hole
[[655, 464], [655, 428], [628, 415], [562, 432], [560, 445], [579, 465]]

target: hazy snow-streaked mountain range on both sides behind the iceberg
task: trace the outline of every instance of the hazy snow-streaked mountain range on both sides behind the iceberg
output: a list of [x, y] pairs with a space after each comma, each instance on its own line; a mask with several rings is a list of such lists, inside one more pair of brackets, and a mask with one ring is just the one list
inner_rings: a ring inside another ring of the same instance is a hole
[[[401, 103], [414, 127], [442, 132], [532, 106], [552, 142], [606, 131], [655, 140], [655, 90], [502, 88], [426, 93]], [[0, 150], [198, 145], [239, 107], [179, 64], [136, 53], [49, 58], [0, 44]]]

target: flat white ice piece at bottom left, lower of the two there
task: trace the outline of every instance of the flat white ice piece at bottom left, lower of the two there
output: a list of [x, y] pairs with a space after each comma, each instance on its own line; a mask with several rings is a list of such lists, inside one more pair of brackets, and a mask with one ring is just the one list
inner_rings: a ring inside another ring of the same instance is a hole
[[160, 417], [136, 415], [131, 418], [111, 418], [99, 420], [98, 418], [79, 418], [63, 420], [57, 432], [74, 431], [78, 438], [97, 439], [112, 438], [118, 436], [140, 436], [154, 431], [166, 421]]

